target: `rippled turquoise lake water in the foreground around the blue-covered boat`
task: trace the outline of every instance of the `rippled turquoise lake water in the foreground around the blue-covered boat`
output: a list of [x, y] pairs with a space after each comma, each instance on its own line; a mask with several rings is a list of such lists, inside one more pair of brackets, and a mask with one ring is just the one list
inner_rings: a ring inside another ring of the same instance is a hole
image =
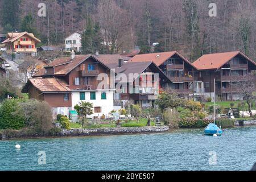
[[[15, 149], [20, 144], [20, 150]], [[46, 164], [38, 164], [38, 152]], [[209, 152], [217, 164], [209, 165]], [[0, 141], [0, 170], [250, 170], [256, 162], [256, 127], [110, 137]]]

